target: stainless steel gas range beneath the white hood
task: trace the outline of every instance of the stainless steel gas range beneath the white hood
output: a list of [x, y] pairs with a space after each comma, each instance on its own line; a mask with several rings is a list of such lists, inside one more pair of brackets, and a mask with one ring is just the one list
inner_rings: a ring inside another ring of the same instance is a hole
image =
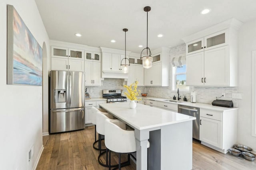
[[121, 96], [121, 90], [103, 90], [103, 98], [107, 99], [107, 103], [127, 102], [127, 98]]

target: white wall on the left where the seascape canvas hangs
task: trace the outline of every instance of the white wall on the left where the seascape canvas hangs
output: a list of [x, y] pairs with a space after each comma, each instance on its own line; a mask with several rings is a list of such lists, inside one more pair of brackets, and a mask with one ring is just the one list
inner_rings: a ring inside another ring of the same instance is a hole
[[[0, 1], [0, 169], [31, 170], [42, 151], [42, 86], [6, 84], [6, 14], [7, 4], [13, 5], [40, 46], [49, 38], [34, 0]], [[28, 151], [33, 148], [28, 163]]]

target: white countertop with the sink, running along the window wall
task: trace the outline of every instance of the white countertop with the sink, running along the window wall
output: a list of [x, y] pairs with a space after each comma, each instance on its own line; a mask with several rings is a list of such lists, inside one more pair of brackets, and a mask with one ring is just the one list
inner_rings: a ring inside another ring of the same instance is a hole
[[[166, 103], [172, 103], [172, 104], [181, 104], [184, 106], [192, 106], [192, 107], [199, 107], [201, 109], [210, 109], [210, 110], [215, 110], [215, 111], [232, 111], [238, 109], [237, 107], [220, 107], [220, 106], [212, 106], [211, 104], [203, 104], [203, 103], [191, 103], [191, 102], [167, 102], [164, 100], [172, 100], [172, 99], [165, 99], [165, 98], [155, 98], [155, 97], [142, 97], [143, 99], [149, 99], [149, 100], [155, 100], [155, 101], [160, 101], [160, 102], [166, 102]], [[181, 100], [180, 100], [181, 101]]]

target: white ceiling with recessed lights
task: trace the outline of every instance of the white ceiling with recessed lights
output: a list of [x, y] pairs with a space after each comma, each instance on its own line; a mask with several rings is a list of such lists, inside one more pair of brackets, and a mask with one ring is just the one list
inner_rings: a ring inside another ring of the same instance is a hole
[[[50, 39], [124, 49], [140, 53], [146, 47], [174, 47], [183, 37], [230, 18], [256, 18], [256, 0], [35, 0]], [[200, 14], [210, 8], [206, 15]], [[82, 37], [76, 37], [81, 33]], [[163, 34], [158, 38], [158, 34]], [[116, 40], [111, 43], [110, 40]], [[138, 47], [143, 45], [143, 48]]]

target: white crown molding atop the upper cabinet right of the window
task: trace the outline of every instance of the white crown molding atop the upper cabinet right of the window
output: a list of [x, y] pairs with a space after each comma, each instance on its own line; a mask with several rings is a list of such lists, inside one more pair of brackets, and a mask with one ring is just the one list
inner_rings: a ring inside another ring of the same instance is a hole
[[188, 43], [188, 42], [193, 41], [195, 39], [198, 39], [198, 38], [201, 38], [201, 37], [205, 37], [207, 35], [210, 35], [212, 33], [216, 33], [216, 32], [219, 32], [219, 31], [222, 31], [224, 29], [238, 30], [238, 29], [240, 29], [242, 24], [243, 23], [241, 21], [239, 21], [239, 20], [237, 20], [235, 18], [231, 18], [229, 20], [217, 23], [216, 25], [213, 25], [211, 27], [208, 27], [206, 29], [198, 31], [198, 32], [196, 32], [194, 34], [191, 34], [191, 35], [189, 35], [187, 37], [184, 37], [184, 38], [182, 38], [182, 40], [185, 43]]

